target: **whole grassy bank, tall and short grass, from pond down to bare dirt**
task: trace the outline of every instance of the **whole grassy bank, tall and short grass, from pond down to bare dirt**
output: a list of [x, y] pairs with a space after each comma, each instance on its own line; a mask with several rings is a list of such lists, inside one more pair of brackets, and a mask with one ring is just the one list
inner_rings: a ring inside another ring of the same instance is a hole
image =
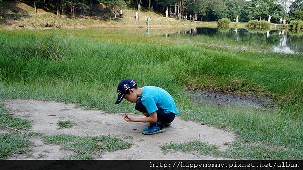
[[[139, 86], [169, 91], [184, 119], [231, 129], [246, 142], [283, 146], [290, 153], [298, 149], [302, 157], [301, 55], [209, 48], [162, 36], [147, 37], [142, 30], [0, 34], [1, 99], [56, 100], [130, 112], [133, 105], [114, 105], [114, 101], [117, 83], [133, 78]], [[185, 89], [270, 96], [280, 109], [193, 104]]]

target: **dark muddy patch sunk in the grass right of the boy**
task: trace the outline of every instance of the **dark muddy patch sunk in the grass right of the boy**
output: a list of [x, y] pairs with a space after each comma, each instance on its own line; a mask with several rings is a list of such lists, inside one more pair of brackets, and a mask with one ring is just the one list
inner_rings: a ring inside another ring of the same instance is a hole
[[231, 95], [214, 92], [187, 92], [187, 96], [197, 103], [210, 103], [218, 106], [224, 105], [238, 105], [243, 107], [252, 107], [256, 109], [273, 109], [276, 106], [271, 99], [259, 96], [242, 96], [242, 95]]

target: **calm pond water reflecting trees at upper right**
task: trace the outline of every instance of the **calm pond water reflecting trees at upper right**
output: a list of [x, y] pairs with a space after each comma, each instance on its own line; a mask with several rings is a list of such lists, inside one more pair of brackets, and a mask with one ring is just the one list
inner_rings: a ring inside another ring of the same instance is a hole
[[303, 33], [292, 34], [287, 30], [247, 30], [247, 29], [218, 29], [195, 28], [165, 34], [167, 37], [182, 37], [194, 41], [224, 42], [225, 45], [248, 46], [257, 50], [273, 51], [276, 53], [303, 53]]

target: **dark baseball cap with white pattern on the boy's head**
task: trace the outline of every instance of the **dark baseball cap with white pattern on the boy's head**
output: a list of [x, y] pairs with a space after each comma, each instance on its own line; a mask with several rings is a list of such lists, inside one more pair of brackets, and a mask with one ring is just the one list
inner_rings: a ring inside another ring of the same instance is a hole
[[134, 81], [133, 79], [125, 79], [120, 81], [117, 88], [118, 99], [116, 100], [115, 104], [119, 104], [122, 101], [125, 93], [128, 92], [128, 89], [135, 87], [137, 85], [138, 85], [137, 82]]

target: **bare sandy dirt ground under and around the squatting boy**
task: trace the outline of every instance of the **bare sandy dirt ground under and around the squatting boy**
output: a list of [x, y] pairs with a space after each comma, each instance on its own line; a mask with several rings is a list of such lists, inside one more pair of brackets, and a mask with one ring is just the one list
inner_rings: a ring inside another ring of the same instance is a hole
[[[14, 99], [4, 101], [4, 105], [12, 110], [14, 116], [29, 119], [32, 122], [31, 130], [35, 132], [48, 135], [73, 134], [78, 136], [110, 134], [133, 143], [129, 149], [95, 155], [97, 159], [223, 159], [176, 151], [164, 154], [161, 151], [161, 146], [170, 142], [200, 140], [201, 142], [217, 145], [221, 150], [224, 150], [227, 148], [225, 144], [234, 141], [236, 138], [236, 135], [231, 132], [184, 121], [179, 117], [176, 117], [172, 125], [166, 128], [166, 132], [156, 135], [143, 135], [141, 131], [148, 124], [126, 122], [123, 119], [124, 113], [108, 114], [103, 111], [84, 110], [76, 108], [75, 104], [54, 101]], [[143, 117], [136, 114], [131, 115]], [[73, 123], [72, 128], [61, 129], [57, 125], [59, 120], [71, 121]], [[38, 138], [34, 138], [32, 141], [34, 147], [32, 153], [30, 153], [31, 155], [19, 155], [10, 159], [59, 159], [73, 154], [71, 151], [60, 149], [58, 145], [45, 145]]]

